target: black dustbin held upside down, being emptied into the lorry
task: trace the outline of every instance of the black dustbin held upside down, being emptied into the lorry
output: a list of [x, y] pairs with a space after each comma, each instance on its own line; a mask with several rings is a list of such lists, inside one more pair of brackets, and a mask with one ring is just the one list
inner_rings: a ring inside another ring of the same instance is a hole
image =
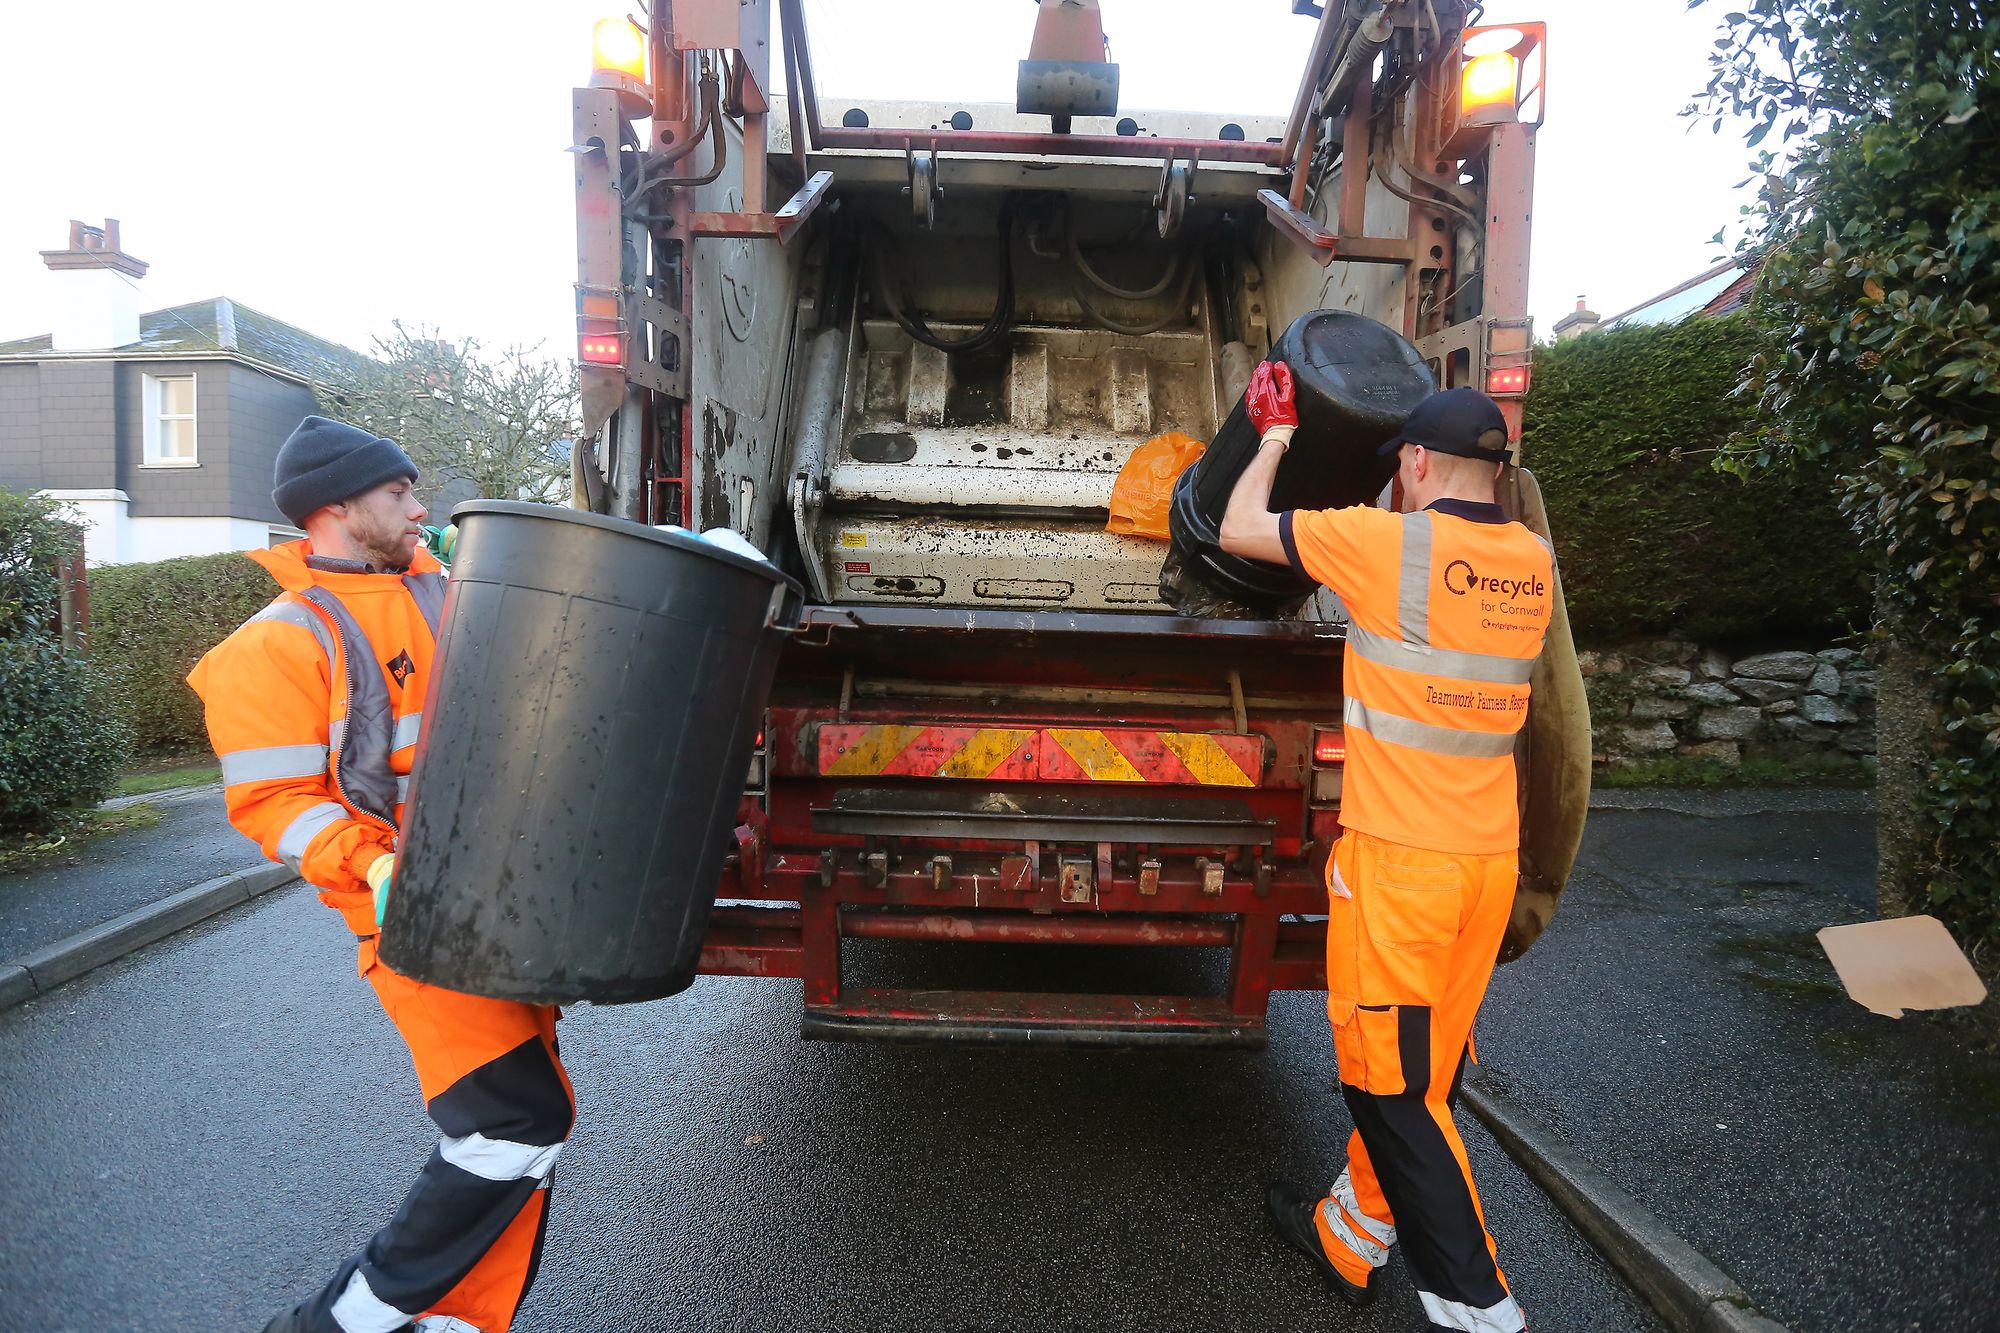
[[[1422, 352], [1364, 314], [1312, 310], [1292, 320], [1270, 356], [1292, 368], [1298, 388], [1298, 434], [1278, 464], [1272, 510], [1372, 502], [1396, 474], [1396, 460], [1376, 450], [1436, 388]], [[1288, 614], [1312, 596], [1314, 584], [1290, 568], [1222, 550], [1222, 512], [1256, 444], [1238, 398], [1208, 450], [1174, 484], [1170, 566], [1178, 564], [1180, 586], [1162, 582], [1162, 592], [1176, 604], [1214, 600]], [[1188, 582], [1208, 596], [1190, 596]]]

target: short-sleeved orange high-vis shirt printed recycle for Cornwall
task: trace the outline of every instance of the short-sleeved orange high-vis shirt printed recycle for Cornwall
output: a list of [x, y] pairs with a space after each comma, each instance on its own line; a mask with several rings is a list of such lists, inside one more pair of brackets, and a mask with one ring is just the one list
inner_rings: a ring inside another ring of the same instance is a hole
[[1292, 510], [1292, 564], [1348, 612], [1340, 823], [1440, 853], [1520, 847], [1514, 741], [1554, 554], [1498, 504]]

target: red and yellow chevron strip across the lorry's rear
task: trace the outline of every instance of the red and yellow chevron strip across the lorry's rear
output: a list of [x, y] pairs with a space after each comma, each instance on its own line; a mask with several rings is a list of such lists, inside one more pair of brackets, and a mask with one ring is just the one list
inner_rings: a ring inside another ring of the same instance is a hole
[[824, 777], [1256, 787], [1260, 737], [1138, 727], [824, 725]]

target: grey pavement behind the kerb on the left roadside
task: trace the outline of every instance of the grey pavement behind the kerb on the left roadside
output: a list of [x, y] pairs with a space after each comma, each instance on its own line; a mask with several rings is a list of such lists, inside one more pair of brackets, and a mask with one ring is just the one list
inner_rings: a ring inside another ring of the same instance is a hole
[[88, 839], [58, 861], [0, 877], [0, 963], [204, 879], [264, 865], [258, 845], [230, 827], [220, 785], [120, 803], [154, 805], [162, 819], [152, 829]]

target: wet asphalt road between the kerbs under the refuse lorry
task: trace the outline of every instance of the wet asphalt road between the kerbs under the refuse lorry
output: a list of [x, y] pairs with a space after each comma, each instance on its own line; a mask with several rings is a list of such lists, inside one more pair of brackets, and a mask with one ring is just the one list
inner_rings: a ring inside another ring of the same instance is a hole
[[[1264, 1183], [1324, 1183], [1348, 1131], [1318, 997], [1280, 997], [1260, 1055], [822, 1045], [796, 1023], [792, 981], [570, 1013], [582, 1121], [516, 1329], [1420, 1325], [1400, 1261], [1348, 1315], [1264, 1227]], [[258, 1329], [388, 1217], [430, 1141], [352, 939], [304, 889], [154, 945], [0, 1015], [0, 1329]], [[1468, 1143], [1538, 1333], [1660, 1327]]]

